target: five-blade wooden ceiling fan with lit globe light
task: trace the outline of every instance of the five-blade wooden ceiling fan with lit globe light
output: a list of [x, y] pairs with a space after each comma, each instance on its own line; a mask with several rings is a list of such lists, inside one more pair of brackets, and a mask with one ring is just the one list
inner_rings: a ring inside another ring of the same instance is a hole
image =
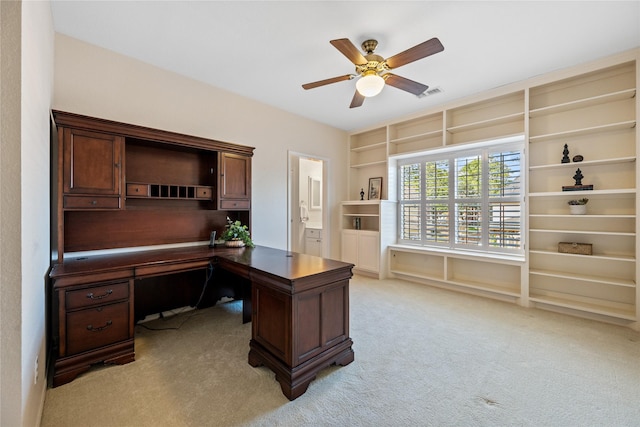
[[442, 46], [440, 40], [434, 37], [426, 42], [422, 42], [412, 48], [409, 48], [404, 52], [400, 52], [397, 55], [384, 59], [380, 55], [373, 53], [378, 46], [378, 42], [376, 40], [365, 40], [362, 43], [362, 50], [366, 52], [366, 55], [364, 56], [349, 39], [331, 40], [329, 43], [346, 56], [349, 61], [353, 62], [356, 66], [356, 74], [346, 74], [344, 76], [307, 83], [303, 84], [302, 87], [304, 89], [313, 89], [319, 86], [359, 77], [356, 82], [356, 92], [353, 95], [349, 108], [360, 107], [364, 102], [365, 97], [376, 96], [379, 94], [385, 83], [414, 95], [420, 95], [426, 91], [429, 86], [400, 77], [396, 74], [390, 73], [389, 71], [444, 50], [444, 46]]

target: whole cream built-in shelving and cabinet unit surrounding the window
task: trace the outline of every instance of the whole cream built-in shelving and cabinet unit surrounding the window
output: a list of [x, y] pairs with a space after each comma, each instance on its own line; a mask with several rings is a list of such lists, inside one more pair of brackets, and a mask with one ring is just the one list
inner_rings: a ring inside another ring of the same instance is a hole
[[[379, 277], [637, 329], [639, 58], [634, 49], [352, 134], [350, 200], [341, 204], [342, 259]], [[389, 201], [396, 200], [398, 159], [514, 135], [527, 141], [524, 256], [396, 244], [397, 204]], [[565, 144], [570, 159], [583, 160], [562, 163]], [[582, 184], [594, 189], [563, 191], [574, 184], [578, 168]], [[373, 177], [383, 178], [383, 200], [359, 200]], [[589, 199], [587, 214], [571, 215], [567, 201], [582, 197]], [[590, 243], [593, 254], [560, 253], [559, 242]]]

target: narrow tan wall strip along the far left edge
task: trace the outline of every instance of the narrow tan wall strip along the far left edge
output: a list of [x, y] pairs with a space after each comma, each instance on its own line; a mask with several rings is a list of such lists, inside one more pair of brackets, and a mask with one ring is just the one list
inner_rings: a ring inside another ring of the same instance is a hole
[[22, 425], [20, 329], [21, 2], [0, 1], [0, 425]]

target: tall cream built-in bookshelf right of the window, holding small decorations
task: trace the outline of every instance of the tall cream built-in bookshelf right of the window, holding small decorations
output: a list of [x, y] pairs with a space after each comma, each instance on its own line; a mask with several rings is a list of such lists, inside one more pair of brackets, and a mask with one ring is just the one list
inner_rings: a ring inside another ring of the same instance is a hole
[[[530, 89], [528, 299], [536, 305], [637, 319], [636, 81], [630, 61]], [[593, 190], [562, 191], [578, 169]], [[586, 215], [569, 215], [577, 198], [589, 199]], [[591, 244], [592, 255], [560, 253], [559, 242]]]

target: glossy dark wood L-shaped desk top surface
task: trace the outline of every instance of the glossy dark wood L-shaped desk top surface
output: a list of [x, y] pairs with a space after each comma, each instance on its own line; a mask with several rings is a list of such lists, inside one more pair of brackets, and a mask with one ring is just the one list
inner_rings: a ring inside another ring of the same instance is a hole
[[99, 280], [142, 278], [204, 268], [209, 262], [219, 263], [222, 268], [247, 278], [260, 273], [290, 286], [300, 282], [310, 285], [315, 276], [331, 271], [349, 270], [350, 273], [353, 267], [341, 261], [266, 246], [209, 248], [201, 245], [67, 258], [54, 265], [49, 276], [63, 285], [72, 285], [77, 283], [74, 279], [87, 274], [103, 276]]

